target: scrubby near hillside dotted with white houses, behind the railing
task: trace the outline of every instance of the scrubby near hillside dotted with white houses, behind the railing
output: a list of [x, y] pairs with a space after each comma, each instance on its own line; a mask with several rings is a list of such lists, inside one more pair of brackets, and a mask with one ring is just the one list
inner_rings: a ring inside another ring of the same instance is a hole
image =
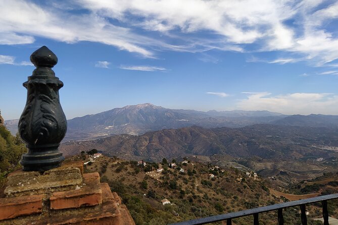
[[[83, 157], [88, 156], [78, 155], [69, 160]], [[151, 170], [149, 165], [150, 162], [143, 167], [136, 161], [101, 156], [85, 166], [85, 171], [101, 174], [102, 181], [122, 198], [137, 225], [164, 225], [282, 201], [269, 194], [267, 184], [260, 178], [249, 177], [234, 168], [209, 168], [195, 161], [177, 163], [177, 168], [153, 162]], [[156, 167], [164, 170], [157, 172]], [[181, 168], [184, 172], [179, 172]], [[214, 178], [210, 178], [211, 173]], [[162, 205], [163, 199], [170, 204]], [[298, 211], [293, 209], [285, 210], [284, 217], [300, 221]], [[274, 212], [264, 213], [260, 222], [274, 224], [276, 218]], [[234, 219], [232, 224], [252, 224], [252, 217]], [[310, 220], [308, 224], [316, 223]]]

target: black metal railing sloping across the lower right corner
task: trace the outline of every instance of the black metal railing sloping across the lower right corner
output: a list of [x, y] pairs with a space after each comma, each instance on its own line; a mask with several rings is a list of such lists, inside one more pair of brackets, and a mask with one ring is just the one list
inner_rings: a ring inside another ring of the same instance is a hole
[[275, 205], [269, 205], [269, 206], [263, 206], [253, 209], [247, 209], [239, 212], [230, 212], [227, 214], [221, 214], [221, 215], [214, 215], [209, 217], [204, 217], [200, 219], [192, 219], [184, 222], [177, 222], [172, 223], [171, 225], [198, 225], [198, 224], [206, 224], [210, 222], [218, 222], [222, 220], [226, 220], [227, 225], [231, 225], [231, 220], [233, 218], [253, 215], [254, 216], [254, 225], [259, 225], [258, 222], [258, 215], [259, 213], [263, 212], [269, 212], [273, 210], [278, 211], [278, 225], [284, 224], [284, 218], [283, 218], [283, 208], [293, 207], [293, 206], [300, 206], [301, 208], [301, 221], [302, 225], [307, 224], [307, 218], [306, 218], [306, 206], [305, 204], [308, 203], [315, 203], [315, 202], [321, 202], [322, 208], [323, 208], [323, 218], [324, 218], [324, 225], [329, 225], [328, 223], [328, 211], [327, 211], [327, 200], [332, 200], [338, 198], [338, 194], [331, 194], [331, 195], [323, 195], [318, 196], [314, 198], [308, 198], [308, 199], [302, 199], [298, 201], [291, 201], [291, 202], [284, 202], [280, 204]]

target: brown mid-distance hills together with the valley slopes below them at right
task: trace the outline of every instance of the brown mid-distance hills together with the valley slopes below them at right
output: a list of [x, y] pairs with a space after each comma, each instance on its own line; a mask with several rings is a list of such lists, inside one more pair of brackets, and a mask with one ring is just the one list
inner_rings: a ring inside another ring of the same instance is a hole
[[244, 128], [189, 127], [148, 132], [140, 136], [116, 135], [92, 141], [65, 142], [66, 155], [96, 148], [123, 159], [159, 161], [184, 156], [206, 156], [222, 165], [239, 163], [263, 177], [277, 176], [281, 184], [298, 182], [335, 170], [338, 157], [336, 130], [276, 125]]

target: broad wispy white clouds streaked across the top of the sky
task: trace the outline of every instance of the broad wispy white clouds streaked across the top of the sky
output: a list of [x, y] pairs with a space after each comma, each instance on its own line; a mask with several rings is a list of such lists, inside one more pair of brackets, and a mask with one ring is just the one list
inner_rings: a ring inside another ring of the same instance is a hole
[[[0, 4], [0, 44], [33, 43], [35, 37], [91, 41], [156, 58], [158, 50], [242, 52], [254, 43], [251, 52], [278, 50], [293, 55], [266, 63], [296, 60], [318, 66], [338, 59], [336, 31], [326, 26], [338, 18], [338, 2], [326, 0], [259, 4], [256, 0], [60, 0], [42, 6], [29, 0], [0, 0]], [[72, 14], [72, 9], [83, 11]]]

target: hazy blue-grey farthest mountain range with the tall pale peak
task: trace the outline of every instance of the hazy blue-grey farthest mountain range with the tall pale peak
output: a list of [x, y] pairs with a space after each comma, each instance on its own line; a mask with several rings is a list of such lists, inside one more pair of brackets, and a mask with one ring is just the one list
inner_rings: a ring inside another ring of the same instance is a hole
[[[5, 126], [15, 134], [18, 120], [5, 121]], [[197, 111], [169, 109], [150, 103], [127, 105], [99, 114], [86, 115], [67, 121], [64, 141], [92, 140], [117, 134], [141, 135], [150, 131], [178, 129], [190, 126], [204, 128], [239, 128], [254, 124], [275, 124], [303, 127], [338, 127], [338, 116], [293, 115], [270, 111]]]

